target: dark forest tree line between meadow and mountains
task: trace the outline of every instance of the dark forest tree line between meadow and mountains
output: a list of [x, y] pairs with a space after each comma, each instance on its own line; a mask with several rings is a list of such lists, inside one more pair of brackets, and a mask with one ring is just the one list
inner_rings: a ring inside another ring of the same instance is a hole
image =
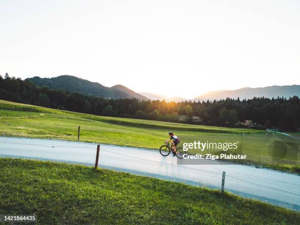
[[300, 127], [298, 96], [181, 102], [107, 99], [37, 87], [27, 79], [6, 73], [4, 77], [0, 75], [0, 99], [102, 116], [232, 127], [238, 126], [239, 121], [252, 120], [287, 131], [297, 131]]

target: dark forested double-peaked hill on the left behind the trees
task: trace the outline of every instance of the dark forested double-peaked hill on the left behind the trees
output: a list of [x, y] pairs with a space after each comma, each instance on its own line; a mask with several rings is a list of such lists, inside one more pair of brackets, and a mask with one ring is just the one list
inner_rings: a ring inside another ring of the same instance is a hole
[[37, 86], [46, 86], [55, 90], [68, 90], [72, 92], [79, 92], [85, 95], [94, 95], [111, 99], [136, 98], [139, 100], [148, 100], [145, 96], [135, 93], [123, 85], [105, 87], [100, 83], [91, 82], [76, 76], [61, 75], [52, 78], [41, 78], [39, 76], [34, 76], [27, 79], [35, 83]]

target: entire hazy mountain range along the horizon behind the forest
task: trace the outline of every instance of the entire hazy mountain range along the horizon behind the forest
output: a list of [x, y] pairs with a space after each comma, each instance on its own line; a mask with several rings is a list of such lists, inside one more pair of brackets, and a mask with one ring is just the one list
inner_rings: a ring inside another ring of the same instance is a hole
[[[52, 78], [41, 78], [34, 76], [27, 78], [37, 86], [47, 86], [56, 90], [68, 90], [79, 92], [86, 95], [94, 95], [102, 98], [122, 99], [135, 98], [138, 100], [166, 100], [166, 101], [184, 101], [189, 100], [180, 96], [166, 97], [159, 94], [148, 92], [136, 93], [133, 90], [125, 87], [122, 84], [117, 84], [112, 87], [106, 87], [98, 82], [92, 82], [72, 75], [60, 75]], [[221, 100], [226, 98], [231, 99], [253, 99], [254, 97], [289, 98], [293, 96], [300, 97], [300, 85], [273, 85], [267, 87], [250, 88], [243, 87], [236, 90], [217, 90], [208, 91], [194, 99], [195, 101], [206, 100]]]

